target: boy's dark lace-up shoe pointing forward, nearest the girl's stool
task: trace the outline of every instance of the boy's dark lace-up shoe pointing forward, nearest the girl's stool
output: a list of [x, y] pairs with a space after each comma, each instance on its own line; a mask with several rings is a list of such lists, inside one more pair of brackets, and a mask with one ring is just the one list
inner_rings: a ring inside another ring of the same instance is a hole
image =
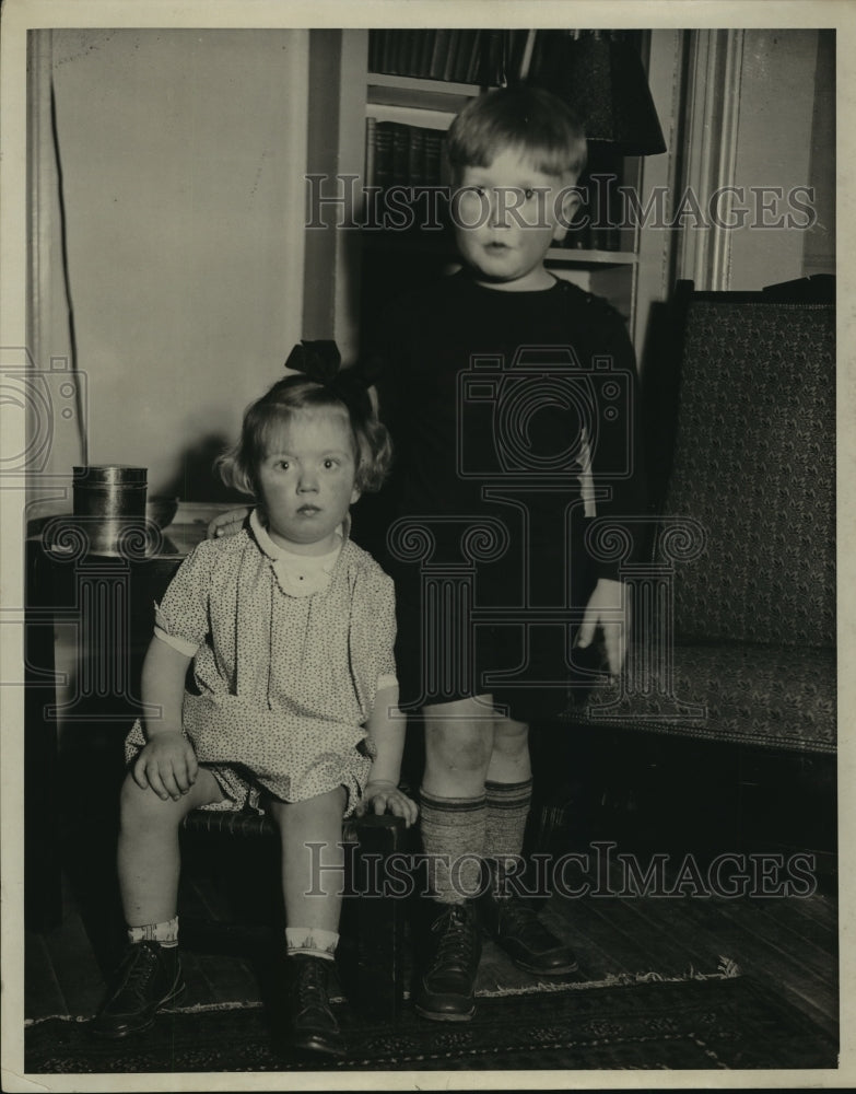
[[413, 1005], [435, 1022], [469, 1022], [476, 1012], [481, 938], [473, 905], [449, 904], [431, 924], [431, 951]]

